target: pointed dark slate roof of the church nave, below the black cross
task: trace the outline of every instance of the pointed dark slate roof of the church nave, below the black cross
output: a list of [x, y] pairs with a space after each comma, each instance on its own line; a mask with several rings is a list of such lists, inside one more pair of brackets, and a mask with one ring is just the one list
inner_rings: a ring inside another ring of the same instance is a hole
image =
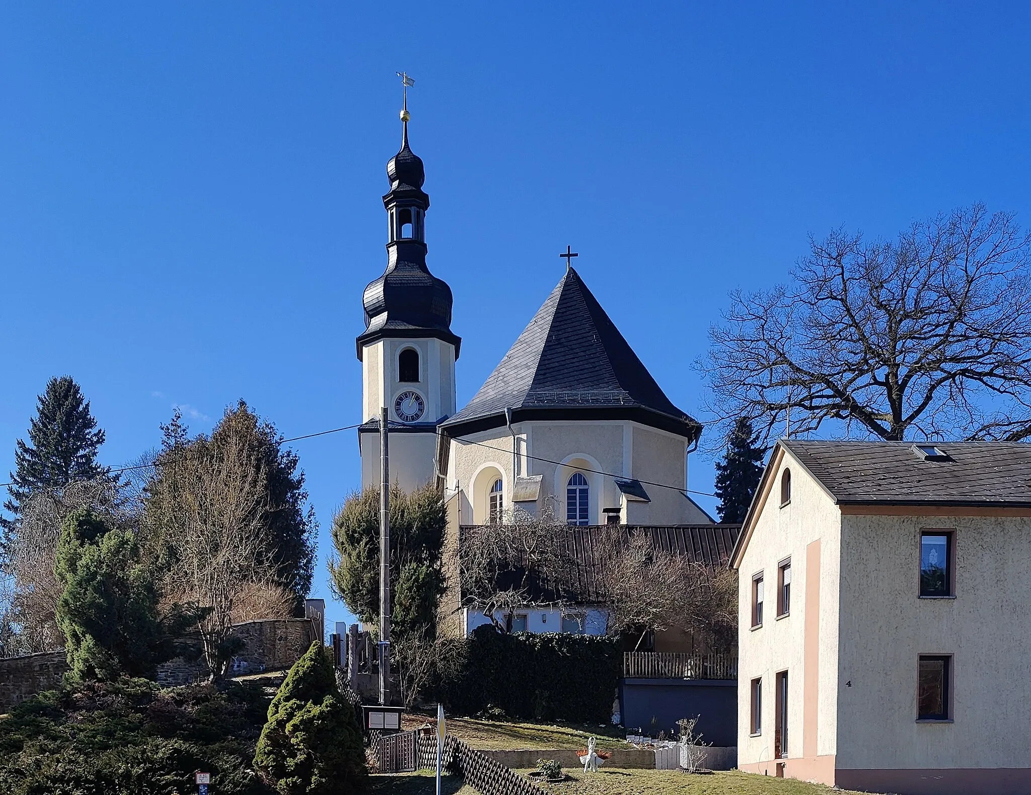
[[512, 420], [635, 419], [695, 439], [701, 425], [670, 402], [573, 268], [501, 363], [442, 428], [448, 435]]

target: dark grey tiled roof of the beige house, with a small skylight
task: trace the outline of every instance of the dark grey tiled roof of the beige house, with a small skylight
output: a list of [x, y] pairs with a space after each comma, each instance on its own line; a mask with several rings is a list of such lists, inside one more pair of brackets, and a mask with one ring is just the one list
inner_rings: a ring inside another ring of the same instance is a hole
[[779, 443], [838, 504], [1031, 505], [1031, 444], [1024, 442], [927, 442], [944, 454], [940, 460], [908, 441]]

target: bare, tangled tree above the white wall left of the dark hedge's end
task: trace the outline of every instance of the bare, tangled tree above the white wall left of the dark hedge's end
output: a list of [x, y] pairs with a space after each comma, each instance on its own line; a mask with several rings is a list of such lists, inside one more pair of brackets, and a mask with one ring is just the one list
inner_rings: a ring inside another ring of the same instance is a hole
[[519, 508], [502, 523], [463, 528], [459, 579], [465, 601], [502, 631], [498, 614], [560, 603], [574, 566], [561, 542], [568, 529], [548, 512], [534, 517]]

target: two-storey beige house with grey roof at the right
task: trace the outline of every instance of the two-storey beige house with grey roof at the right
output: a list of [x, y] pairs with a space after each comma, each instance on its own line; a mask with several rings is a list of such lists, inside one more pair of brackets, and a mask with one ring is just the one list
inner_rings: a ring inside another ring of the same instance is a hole
[[1031, 445], [780, 441], [731, 566], [742, 770], [1031, 793]]

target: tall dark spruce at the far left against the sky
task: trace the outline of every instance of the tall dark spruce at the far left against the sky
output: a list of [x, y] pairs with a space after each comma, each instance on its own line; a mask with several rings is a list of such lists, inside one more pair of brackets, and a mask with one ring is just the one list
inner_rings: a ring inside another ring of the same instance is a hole
[[70, 375], [51, 378], [38, 398], [29, 441], [19, 439], [14, 451], [12, 485], [7, 487], [9, 498], [4, 502], [13, 518], [0, 518], [4, 538], [15, 527], [22, 502], [34, 492], [62, 488], [72, 481], [110, 477], [110, 470], [97, 463], [97, 450], [103, 443], [104, 431], [97, 427], [90, 401], [74, 379]]

